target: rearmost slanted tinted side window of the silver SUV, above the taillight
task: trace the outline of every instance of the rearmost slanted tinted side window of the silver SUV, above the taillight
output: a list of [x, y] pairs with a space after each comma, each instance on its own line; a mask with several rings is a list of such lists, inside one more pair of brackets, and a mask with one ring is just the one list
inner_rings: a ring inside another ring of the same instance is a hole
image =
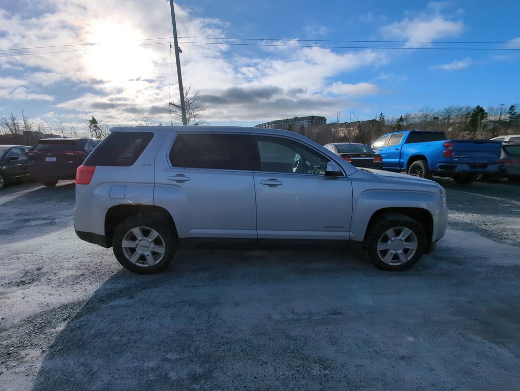
[[85, 159], [84, 166], [132, 166], [153, 138], [151, 132], [110, 133]]

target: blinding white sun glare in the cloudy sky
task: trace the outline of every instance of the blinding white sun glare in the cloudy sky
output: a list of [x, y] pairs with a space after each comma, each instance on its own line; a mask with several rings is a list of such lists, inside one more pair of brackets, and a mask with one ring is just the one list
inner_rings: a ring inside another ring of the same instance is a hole
[[98, 21], [92, 25], [87, 42], [94, 46], [86, 53], [86, 65], [93, 77], [121, 82], [148, 77], [151, 71], [149, 52], [138, 46], [136, 34], [129, 24]]

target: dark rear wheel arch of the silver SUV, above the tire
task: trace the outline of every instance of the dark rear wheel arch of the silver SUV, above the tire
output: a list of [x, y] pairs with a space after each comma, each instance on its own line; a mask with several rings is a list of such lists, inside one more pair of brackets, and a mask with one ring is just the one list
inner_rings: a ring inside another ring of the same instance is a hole
[[171, 224], [175, 235], [177, 235], [177, 227], [175, 226], [172, 215], [162, 207], [152, 205], [115, 205], [111, 207], [105, 215], [105, 237], [108, 247], [112, 246], [115, 228], [124, 220], [137, 214], [145, 214], [148, 217], [153, 216], [157, 219], [165, 219]]

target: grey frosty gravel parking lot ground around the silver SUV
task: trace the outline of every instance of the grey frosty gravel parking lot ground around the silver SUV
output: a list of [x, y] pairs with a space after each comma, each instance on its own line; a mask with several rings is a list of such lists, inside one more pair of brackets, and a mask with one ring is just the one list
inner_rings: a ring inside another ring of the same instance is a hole
[[185, 249], [127, 272], [73, 181], [0, 192], [2, 390], [518, 390], [520, 184], [456, 185], [402, 273], [359, 251]]

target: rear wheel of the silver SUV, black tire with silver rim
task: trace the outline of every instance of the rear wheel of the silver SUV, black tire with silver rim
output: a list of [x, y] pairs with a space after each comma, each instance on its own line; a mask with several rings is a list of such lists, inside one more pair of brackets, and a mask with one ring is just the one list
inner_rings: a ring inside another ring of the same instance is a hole
[[138, 214], [115, 229], [112, 247], [115, 258], [125, 269], [153, 274], [170, 266], [179, 244], [171, 222]]

